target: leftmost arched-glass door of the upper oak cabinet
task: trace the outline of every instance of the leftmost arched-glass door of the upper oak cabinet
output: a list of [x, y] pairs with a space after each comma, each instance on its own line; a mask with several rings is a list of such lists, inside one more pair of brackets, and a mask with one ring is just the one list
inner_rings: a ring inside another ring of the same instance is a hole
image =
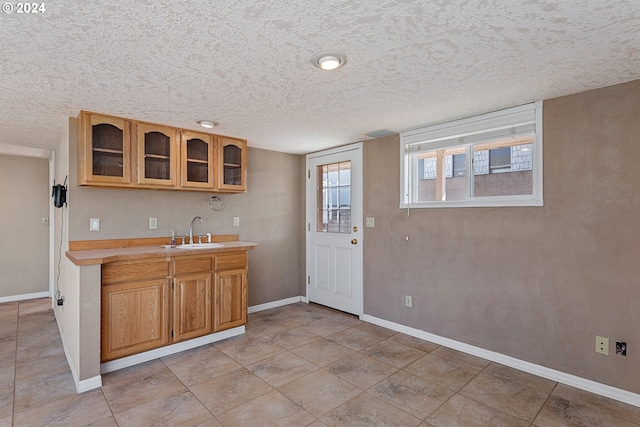
[[131, 183], [130, 123], [118, 117], [80, 113], [79, 184]]

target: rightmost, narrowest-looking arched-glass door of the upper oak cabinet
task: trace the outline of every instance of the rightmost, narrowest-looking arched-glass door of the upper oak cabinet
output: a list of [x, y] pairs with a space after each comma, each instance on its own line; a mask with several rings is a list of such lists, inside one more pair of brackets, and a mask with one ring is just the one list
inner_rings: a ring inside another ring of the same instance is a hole
[[218, 143], [217, 190], [247, 189], [247, 141], [221, 136]]

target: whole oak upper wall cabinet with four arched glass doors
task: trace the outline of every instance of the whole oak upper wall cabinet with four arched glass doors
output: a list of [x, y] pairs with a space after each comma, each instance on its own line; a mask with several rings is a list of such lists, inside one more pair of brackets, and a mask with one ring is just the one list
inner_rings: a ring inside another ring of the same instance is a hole
[[81, 111], [78, 185], [246, 191], [247, 142]]

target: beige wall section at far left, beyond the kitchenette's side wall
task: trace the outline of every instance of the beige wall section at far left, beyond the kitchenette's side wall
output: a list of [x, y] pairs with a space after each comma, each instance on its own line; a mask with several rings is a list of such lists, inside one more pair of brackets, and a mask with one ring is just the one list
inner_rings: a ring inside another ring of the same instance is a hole
[[0, 298], [49, 290], [49, 160], [0, 155]]

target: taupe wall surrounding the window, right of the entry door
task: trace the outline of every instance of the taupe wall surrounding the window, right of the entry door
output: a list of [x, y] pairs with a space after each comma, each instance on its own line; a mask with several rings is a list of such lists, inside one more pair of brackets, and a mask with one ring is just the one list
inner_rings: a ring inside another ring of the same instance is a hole
[[365, 313], [640, 392], [639, 117], [640, 81], [545, 101], [544, 207], [407, 216], [398, 137], [365, 143]]

